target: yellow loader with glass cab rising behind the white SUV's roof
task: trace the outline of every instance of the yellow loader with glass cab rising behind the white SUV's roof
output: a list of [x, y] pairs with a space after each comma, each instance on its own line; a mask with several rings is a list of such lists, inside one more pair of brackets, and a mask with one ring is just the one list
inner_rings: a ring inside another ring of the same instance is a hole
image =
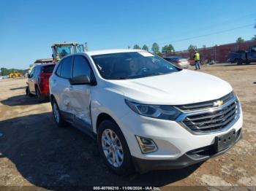
[[51, 46], [53, 50], [53, 63], [60, 61], [65, 55], [84, 52], [83, 44], [75, 42], [56, 43]]

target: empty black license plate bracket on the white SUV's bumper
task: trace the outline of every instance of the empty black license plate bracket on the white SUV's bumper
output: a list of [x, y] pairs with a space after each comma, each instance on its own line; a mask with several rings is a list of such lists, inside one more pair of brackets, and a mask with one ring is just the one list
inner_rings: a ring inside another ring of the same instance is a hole
[[230, 147], [236, 141], [236, 130], [231, 130], [230, 132], [215, 137], [214, 149], [216, 152], [220, 152], [227, 147]]

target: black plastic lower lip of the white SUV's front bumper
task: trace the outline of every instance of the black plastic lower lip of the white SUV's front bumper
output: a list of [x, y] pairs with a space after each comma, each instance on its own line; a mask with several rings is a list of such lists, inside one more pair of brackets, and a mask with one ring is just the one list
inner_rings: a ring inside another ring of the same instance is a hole
[[212, 144], [207, 147], [201, 147], [199, 149], [191, 150], [184, 155], [181, 155], [181, 157], [178, 157], [176, 160], [145, 160], [138, 157], [132, 157], [132, 160], [135, 165], [136, 171], [140, 172], [140, 174], [153, 170], [185, 168], [189, 165], [201, 163], [211, 157], [222, 155], [228, 149], [233, 147], [236, 142], [238, 142], [241, 138], [242, 132], [240, 129], [236, 132], [236, 141], [232, 145], [230, 145], [230, 147], [227, 147], [220, 152], [215, 152], [214, 144]]

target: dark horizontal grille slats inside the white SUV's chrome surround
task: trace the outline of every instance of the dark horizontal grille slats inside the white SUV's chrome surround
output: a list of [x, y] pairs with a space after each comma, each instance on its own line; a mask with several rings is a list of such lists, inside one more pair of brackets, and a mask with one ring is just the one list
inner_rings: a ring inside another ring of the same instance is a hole
[[238, 101], [234, 99], [220, 109], [208, 109], [203, 113], [189, 114], [182, 120], [190, 130], [198, 133], [208, 133], [222, 130], [238, 115]]

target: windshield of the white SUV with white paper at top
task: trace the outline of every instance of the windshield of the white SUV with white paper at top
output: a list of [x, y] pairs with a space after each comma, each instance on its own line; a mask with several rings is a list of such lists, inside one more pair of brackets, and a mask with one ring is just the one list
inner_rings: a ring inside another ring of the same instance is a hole
[[105, 79], [134, 79], [181, 70], [149, 52], [121, 52], [92, 58]]

